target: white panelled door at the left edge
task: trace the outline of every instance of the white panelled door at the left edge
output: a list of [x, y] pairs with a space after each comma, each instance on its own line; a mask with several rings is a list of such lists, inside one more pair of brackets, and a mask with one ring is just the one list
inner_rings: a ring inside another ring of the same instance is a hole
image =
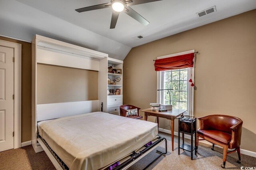
[[0, 45], [0, 152], [14, 148], [14, 49]]

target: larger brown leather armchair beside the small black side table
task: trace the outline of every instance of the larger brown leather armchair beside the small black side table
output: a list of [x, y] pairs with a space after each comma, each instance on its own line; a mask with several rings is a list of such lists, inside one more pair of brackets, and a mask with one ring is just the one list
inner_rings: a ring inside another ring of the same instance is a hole
[[[198, 118], [200, 121], [200, 128], [197, 130], [196, 148], [198, 148], [199, 137], [201, 140], [207, 140], [212, 143], [212, 150], [214, 144], [223, 147], [223, 164], [225, 168], [227, 154], [238, 153], [238, 163], [241, 162], [240, 144], [242, 134], [243, 121], [237, 117], [228, 115], [209, 115]], [[228, 151], [228, 149], [234, 149]]]

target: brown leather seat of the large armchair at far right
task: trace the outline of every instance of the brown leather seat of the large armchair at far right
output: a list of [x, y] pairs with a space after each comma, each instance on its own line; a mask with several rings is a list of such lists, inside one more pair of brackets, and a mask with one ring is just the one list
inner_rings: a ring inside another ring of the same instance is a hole
[[202, 134], [216, 142], [221, 144], [229, 145], [231, 141], [231, 134], [218, 130], [197, 130], [198, 134]]

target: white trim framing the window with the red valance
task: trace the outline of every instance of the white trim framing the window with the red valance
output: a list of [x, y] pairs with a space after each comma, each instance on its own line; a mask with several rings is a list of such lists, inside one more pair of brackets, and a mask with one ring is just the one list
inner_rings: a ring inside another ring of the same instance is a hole
[[[162, 59], [162, 58], [168, 58], [168, 57], [174, 57], [177, 55], [184, 55], [184, 54], [189, 54], [189, 53], [194, 53], [195, 50], [190, 50], [190, 51], [184, 51], [184, 52], [180, 52], [180, 53], [174, 53], [174, 54], [169, 54], [169, 55], [164, 55], [164, 56], [160, 56], [157, 57], [157, 59]], [[195, 58], [193, 59], [194, 63], [195, 63]], [[190, 67], [190, 69], [188, 69], [188, 77], [190, 77], [191, 73], [192, 73], [192, 80], [194, 83], [194, 75], [195, 75], [195, 69], [194, 69], [195, 65], [193, 67]], [[162, 77], [164, 76], [162, 71], [157, 71], [157, 84], [156, 84], [156, 88], [157, 89], [161, 89], [162, 88]], [[190, 84], [188, 84], [188, 87], [190, 87], [190, 93], [188, 93], [188, 97], [190, 100], [188, 100], [188, 113], [190, 116], [194, 116], [194, 87], [190, 86]], [[163, 91], [156, 91], [156, 102], [160, 103], [161, 102], [161, 97], [163, 95]]]

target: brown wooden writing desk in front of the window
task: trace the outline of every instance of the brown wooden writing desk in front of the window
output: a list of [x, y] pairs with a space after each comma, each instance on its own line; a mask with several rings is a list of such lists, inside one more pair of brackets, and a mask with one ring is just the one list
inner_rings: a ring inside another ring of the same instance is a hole
[[144, 110], [141, 110], [141, 111], [145, 113], [145, 121], [148, 120], [148, 116], [157, 117], [158, 128], [159, 128], [159, 117], [171, 120], [172, 150], [173, 150], [173, 145], [174, 145], [174, 120], [179, 116], [183, 116], [183, 113], [186, 112], [187, 110], [172, 109], [172, 110], [169, 110], [167, 112], [155, 112], [155, 111], [152, 111], [151, 109], [144, 109]]

